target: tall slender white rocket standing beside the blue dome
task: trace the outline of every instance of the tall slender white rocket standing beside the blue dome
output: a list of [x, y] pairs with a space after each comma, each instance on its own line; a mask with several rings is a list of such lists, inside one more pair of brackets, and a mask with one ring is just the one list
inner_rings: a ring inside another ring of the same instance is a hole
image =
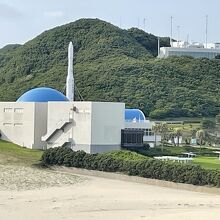
[[66, 97], [69, 101], [74, 101], [74, 78], [73, 78], [73, 43], [69, 43], [68, 48], [68, 75], [66, 78]]

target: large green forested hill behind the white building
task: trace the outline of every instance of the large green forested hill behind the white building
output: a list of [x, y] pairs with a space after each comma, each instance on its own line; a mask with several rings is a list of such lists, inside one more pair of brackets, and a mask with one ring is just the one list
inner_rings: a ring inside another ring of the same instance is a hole
[[[98, 19], [81, 19], [8, 52], [0, 50], [0, 100], [14, 101], [39, 86], [64, 92], [69, 41], [84, 100], [122, 101], [154, 118], [220, 112], [220, 60], [158, 60], [156, 36]], [[168, 39], [162, 38], [162, 44]]]

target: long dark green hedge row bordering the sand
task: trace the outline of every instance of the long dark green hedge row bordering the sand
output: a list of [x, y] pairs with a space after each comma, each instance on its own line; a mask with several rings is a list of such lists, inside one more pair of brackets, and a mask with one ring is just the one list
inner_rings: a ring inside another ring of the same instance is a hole
[[163, 162], [151, 158], [127, 160], [106, 154], [74, 152], [67, 147], [51, 148], [44, 152], [42, 162], [46, 165], [63, 165], [106, 172], [121, 172], [132, 176], [220, 187], [220, 172], [206, 170], [198, 165]]

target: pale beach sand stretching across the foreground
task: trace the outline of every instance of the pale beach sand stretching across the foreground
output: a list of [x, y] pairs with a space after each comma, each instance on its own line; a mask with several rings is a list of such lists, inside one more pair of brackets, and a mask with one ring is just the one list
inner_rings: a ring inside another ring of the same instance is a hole
[[[7, 167], [4, 169], [5, 178]], [[18, 169], [11, 167], [8, 171], [10, 177], [6, 182], [1, 180], [1, 220], [220, 218], [220, 195], [32, 168]], [[27, 184], [3, 187], [5, 183], [13, 185], [13, 179], [22, 182], [25, 175]], [[39, 184], [40, 180], [44, 183]]]

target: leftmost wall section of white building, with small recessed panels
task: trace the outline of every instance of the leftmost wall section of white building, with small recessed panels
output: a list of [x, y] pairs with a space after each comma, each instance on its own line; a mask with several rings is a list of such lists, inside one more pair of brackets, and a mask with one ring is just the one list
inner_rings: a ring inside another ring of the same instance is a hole
[[[0, 102], [1, 139], [20, 146], [42, 149], [40, 136], [45, 133], [46, 103]], [[36, 129], [35, 121], [41, 127]]]

